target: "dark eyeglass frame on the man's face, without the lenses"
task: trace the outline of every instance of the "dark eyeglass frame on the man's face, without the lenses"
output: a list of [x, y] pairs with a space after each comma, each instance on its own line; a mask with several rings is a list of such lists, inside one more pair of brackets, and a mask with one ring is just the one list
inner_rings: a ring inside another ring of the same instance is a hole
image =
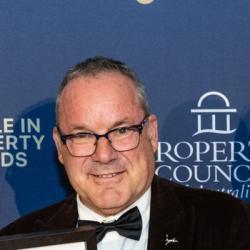
[[[91, 133], [91, 132], [80, 132], [80, 133], [76, 133], [76, 134], [63, 134], [62, 131], [61, 131], [61, 129], [60, 129], [60, 127], [59, 127], [58, 125], [56, 126], [56, 128], [57, 128], [57, 131], [58, 131], [58, 133], [59, 133], [59, 136], [60, 136], [60, 139], [61, 139], [62, 143], [63, 143], [64, 145], [66, 145], [66, 146], [67, 146], [67, 140], [68, 140], [68, 139], [77, 138], [77, 137], [80, 137], [80, 136], [83, 136], [83, 135], [95, 136], [95, 138], [96, 138], [96, 142], [95, 142], [95, 144], [94, 144], [95, 146], [96, 146], [98, 140], [99, 140], [101, 137], [105, 137], [105, 138], [110, 142], [110, 145], [112, 146], [112, 141], [109, 139], [109, 134], [110, 134], [110, 133], [112, 133], [112, 132], [114, 132], [114, 131], [119, 131], [119, 130], [121, 130], [121, 129], [128, 129], [128, 130], [136, 129], [136, 130], [138, 131], [139, 135], [141, 135], [142, 130], [143, 130], [145, 124], [147, 123], [149, 116], [150, 116], [150, 115], [145, 115], [144, 118], [143, 118], [143, 120], [142, 120], [142, 122], [140, 122], [139, 124], [135, 124], [135, 125], [131, 125], [131, 126], [124, 126], [124, 127], [119, 127], [119, 128], [114, 128], [114, 129], [111, 129], [111, 130], [107, 131], [105, 134], [101, 134], [101, 135], [100, 135], [100, 134], [96, 134], [96, 133]], [[132, 148], [129, 149], [129, 150], [132, 150], [132, 149], [136, 148], [136, 147], [139, 145], [139, 143], [140, 143], [140, 137], [139, 137], [139, 140], [138, 140], [137, 145], [135, 145], [135, 147], [132, 147]], [[113, 147], [113, 146], [112, 146], [112, 147]], [[67, 149], [69, 150], [68, 146], [67, 146]], [[115, 149], [115, 148], [114, 148], [114, 149]], [[118, 152], [128, 151], [128, 150], [117, 150], [117, 149], [115, 149], [115, 150], [118, 151]], [[69, 150], [69, 152], [70, 152], [70, 150]], [[94, 152], [95, 152], [95, 150], [94, 150]], [[94, 152], [93, 152], [93, 153], [94, 153]], [[71, 153], [71, 152], [70, 152], [70, 153]], [[93, 154], [93, 153], [92, 153], [92, 154]], [[72, 154], [72, 153], [71, 153], [71, 154]], [[90, 154], [90, 155], [91, 155], [91, 154]], [[87, 156], [88, 156], [88, 155], [87, 155]]]

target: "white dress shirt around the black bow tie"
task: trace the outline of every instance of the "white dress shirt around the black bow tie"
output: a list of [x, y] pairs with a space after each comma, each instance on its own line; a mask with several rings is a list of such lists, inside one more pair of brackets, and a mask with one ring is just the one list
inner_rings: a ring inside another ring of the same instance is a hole
[[93, 220], [98, 222], [112, 222], [117, 220], [127, 210], [137, 206], [142, 216], [142, 233], [140, 240], [125, 238], [116, 231], [107, 232], [97, 244], [98, 250], [146, 250], [148, 245], [148, 229], [150, 214], [151, 188], [149, 188], [134, 204], [119, 214], [103, 217], [87, 208], [77, 195], [77, 209], [80, 220]]

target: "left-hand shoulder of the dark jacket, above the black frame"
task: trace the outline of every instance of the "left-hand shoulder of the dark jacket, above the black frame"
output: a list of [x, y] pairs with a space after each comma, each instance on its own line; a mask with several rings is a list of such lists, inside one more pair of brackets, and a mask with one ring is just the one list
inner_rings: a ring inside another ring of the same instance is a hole
[[[72, 221], [76, 220], [76, 214], [75, 195], [71, 195], [60, 202], [29, 213], [10, 223], [0, 230], [0, 236], [67, 228]], [[67, 217], [70, 220], [67, 220]]]

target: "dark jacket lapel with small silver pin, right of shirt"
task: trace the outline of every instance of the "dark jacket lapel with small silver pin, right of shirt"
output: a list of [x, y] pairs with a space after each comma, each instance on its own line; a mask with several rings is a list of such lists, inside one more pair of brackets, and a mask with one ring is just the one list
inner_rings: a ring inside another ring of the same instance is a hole
[[195, 212], [183, 208], [174, 185], [155, 176], [152, 183], [148, 250], [193, 249]]

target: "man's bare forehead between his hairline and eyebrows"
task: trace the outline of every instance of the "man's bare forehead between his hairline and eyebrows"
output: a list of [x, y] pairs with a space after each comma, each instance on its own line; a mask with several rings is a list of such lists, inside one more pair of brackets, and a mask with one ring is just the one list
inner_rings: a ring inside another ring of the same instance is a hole
[[141, 107], [131, 79], [117, 72], [73, 79], [61, 94], [59, 120], [79, 123], [136, 116]]

